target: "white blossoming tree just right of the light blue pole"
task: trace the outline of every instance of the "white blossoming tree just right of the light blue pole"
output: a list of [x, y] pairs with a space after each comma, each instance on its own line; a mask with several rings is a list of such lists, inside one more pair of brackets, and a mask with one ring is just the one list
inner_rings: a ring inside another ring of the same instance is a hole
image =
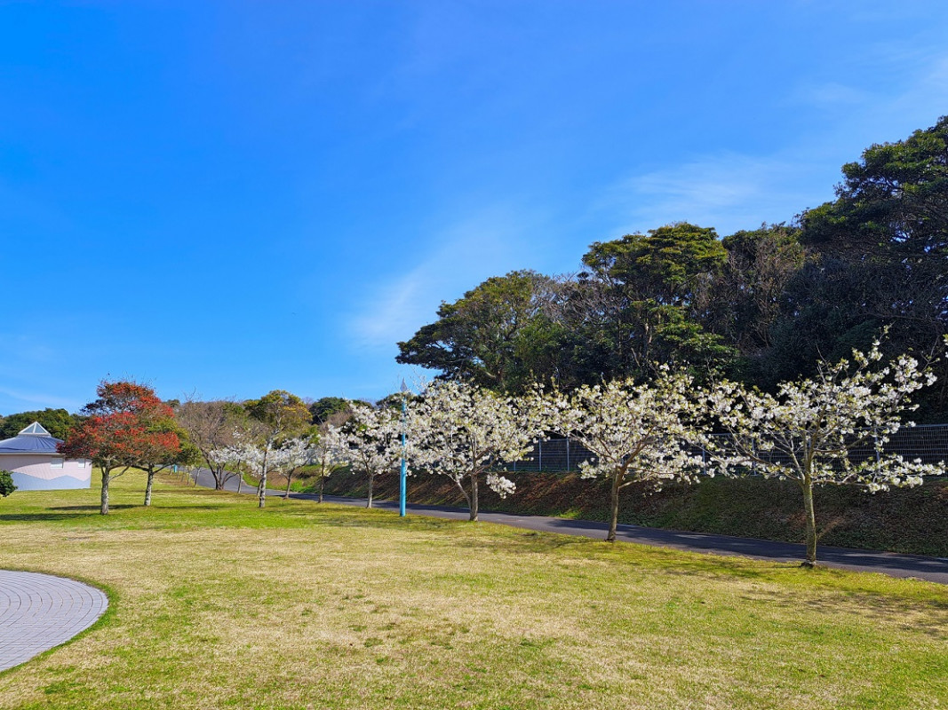
[[434, 382], [410, 409], [408, 432], [415, 467], [454, 481], [476, 522], [482, 480], [501, 497], [513, 493], [513, 481], [494, 469], [529, 453], [542, 426], [514, 399], [466, 382]]

